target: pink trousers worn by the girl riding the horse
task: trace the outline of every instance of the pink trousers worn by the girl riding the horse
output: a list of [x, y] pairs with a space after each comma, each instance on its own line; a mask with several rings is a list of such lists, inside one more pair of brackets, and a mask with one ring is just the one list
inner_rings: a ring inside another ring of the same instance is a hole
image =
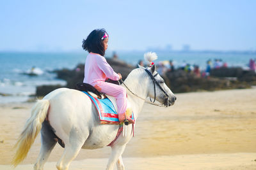
[[126, 90], [124, 87], [120, 85], [115, 85], [113, 83], [107, 83], [105, 81], [99, 81], [97, 83], [93, 83], [93, 86], [99, 92], [115, 97], [116, 105], [117, 105], [117, 113], [118, 114], [125, 113], [127, 109], [127, 97], [126, 97]]

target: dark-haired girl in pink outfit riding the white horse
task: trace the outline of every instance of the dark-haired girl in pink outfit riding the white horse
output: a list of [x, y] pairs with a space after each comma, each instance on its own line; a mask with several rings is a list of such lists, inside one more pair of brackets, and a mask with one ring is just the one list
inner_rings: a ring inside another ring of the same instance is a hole
[[105, 29], [95, 29], [86, 39], [83, 39], [82, 47], [89, 52], [84, 64], [83, 82], [92, 85], [99, 92], [115, 97], [119, 121], [124, 122], [126, 118], [134, 124], [131, 118], [125, 116], [127, 109], [125, 88], [105, 81], [107, 78], [115, 81], [122, 78], [120, 73], [113, 71], [104, 57], [108, 48], [108, 39]]

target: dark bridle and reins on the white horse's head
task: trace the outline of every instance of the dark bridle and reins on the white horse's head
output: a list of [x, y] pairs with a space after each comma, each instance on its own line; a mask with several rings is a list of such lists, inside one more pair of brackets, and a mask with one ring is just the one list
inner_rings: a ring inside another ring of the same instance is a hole
[[[154, 101], [152, 102], [151, 101], [151, 98], [150, 98], [150, 101], [151, 102], [148, 102], [146, 101], [145, 99], [143, 99], [142, 97], [138, 96], [137, 94], [134, 94], [134, 92], [132, 92], [128, 87], [127, 85], [125, 85], [124, 81], [122, 79], [120, 79], [122, 81], [122, 83], [124, 84], [124, 86], [126, 87], [127, 90], [129, 90], [129, 92], [131, 92], [131, 94], [133, 94], [134, 96], [142, 99], [143, 101], [145, 101], [146, 103], [149, 103], [149, 104], [152, 104], [152, 105], [155, 105], [155, 106], [159, 106], [159, 107], [167, 107], [169, 105], [169, 99], [170, 99], [170, 96], [168, 96], [168, 94], [164, 91], [164, 89], [161, 87], [161, 85], [159, 85], [159, 83], [156, 81], [156, 76], [158, 75], [158, 73], [156, 73], [155, 75], [153, 75], [152, 73], [150, 73], [150, 71], [148, 71], [148, 69], [145, 69], [146, 73], [150, 76], [151, 80], [153, 81], [153, 84], [154, 84]], [[156, 101], [156, 85], [159, 87], [159, 89], [164, 93], [164, 95], [166, 96], [166, 103], [164, 104], [156, 104], [154, 103]]]

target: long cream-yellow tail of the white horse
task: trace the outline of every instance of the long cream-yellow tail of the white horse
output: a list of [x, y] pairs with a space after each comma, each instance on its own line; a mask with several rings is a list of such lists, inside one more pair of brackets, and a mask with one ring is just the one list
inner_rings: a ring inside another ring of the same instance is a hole
[[31, 117], [27, 120], [23, 131], [20, 134], [19, 140], [15, 144], [17, 151], [13, 157], [12, 164], [17, 166], [22, 160], [24, 160], [28, 154], [31, 145], [34, 143], [38, 132], [42, 128], [42, 122], [44, 122], [47, 116], [50, 106], [49, 100], [42, 99], [37, 101], [31, 110]]

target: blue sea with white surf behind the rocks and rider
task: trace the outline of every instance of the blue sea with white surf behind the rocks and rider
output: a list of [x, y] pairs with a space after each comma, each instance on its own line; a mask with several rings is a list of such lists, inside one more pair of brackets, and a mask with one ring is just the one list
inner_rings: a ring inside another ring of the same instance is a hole
[[[136, 66], [143, 60], [142, 51], [116, 52], [118, 59]], [[0, 52], [0, 103], [20, 103], [29, 100], [36, 92], [38, 85], [65, 85], [66, 82], [56, 78], [56, 69], [74, 69], [77, 64], [84, 63], [86, 52]], [[106, 57], [112, 57], [107, 52]], [[250, 59], [256, 58], [255, 52], [190, 52], [171, 51], [157, 52], [162, 62], [172, 60], [175, 67], [184, 62], [198, 65], [201, 70], [206, 67], [207, 60], [221, 59], [229, 67], [248, 69]], [[29, 73], [36, 74], [31, 76]]]

